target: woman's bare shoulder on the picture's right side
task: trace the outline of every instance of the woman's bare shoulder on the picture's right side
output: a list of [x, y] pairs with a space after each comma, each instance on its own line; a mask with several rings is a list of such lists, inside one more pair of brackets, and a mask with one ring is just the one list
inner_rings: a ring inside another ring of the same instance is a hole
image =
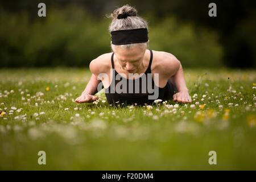
[[152, 69], [167, 76], [175, 75], [180, 68], [180, 61], [169, 52], [153, 51]]

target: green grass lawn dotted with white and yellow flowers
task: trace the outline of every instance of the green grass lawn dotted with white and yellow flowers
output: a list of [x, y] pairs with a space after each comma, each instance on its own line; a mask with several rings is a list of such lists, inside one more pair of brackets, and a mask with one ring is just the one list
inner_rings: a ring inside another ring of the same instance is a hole
[[192, 104], [152, 108], [76, 104], [89, 76], [0, 70], [0, 169], [256, 169], [255, 71], [185, 69]]

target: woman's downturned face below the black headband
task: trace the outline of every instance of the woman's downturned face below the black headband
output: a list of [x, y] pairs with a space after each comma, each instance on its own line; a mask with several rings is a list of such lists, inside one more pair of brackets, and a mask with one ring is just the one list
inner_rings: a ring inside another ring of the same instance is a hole
[[134, 46], [127, 50], [116, 46], [114, 51], [117, 61], [123, 70], [129, 73], [137, 73], [142, 66], [146, 49], [142, 48], [142, 46]]

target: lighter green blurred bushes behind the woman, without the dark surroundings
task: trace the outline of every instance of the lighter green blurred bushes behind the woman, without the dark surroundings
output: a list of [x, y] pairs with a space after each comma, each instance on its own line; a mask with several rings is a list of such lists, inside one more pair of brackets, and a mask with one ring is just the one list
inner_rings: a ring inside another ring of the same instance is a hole
[[[111, 52], [111, 20], [91, 16], [80, 7], [47, 9], [47, 17], [36, 20], [24, 12], [0, 12], [1, 67], [88, 66], [97, 56]], [[173, 53], [186, 67], [222, 65], [216, 33], [174, 16], [160, 22], [145, 18], [151, 49]]]

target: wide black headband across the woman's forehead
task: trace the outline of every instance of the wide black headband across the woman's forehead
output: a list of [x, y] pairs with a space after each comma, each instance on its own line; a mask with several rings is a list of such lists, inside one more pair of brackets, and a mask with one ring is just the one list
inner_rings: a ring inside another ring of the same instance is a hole
[[148, 41], [147, 28], [116, 30], [116, 31], [112, 31], [111, 35], [112, 35], [112, 44], [114, 45], [144, 43]]

